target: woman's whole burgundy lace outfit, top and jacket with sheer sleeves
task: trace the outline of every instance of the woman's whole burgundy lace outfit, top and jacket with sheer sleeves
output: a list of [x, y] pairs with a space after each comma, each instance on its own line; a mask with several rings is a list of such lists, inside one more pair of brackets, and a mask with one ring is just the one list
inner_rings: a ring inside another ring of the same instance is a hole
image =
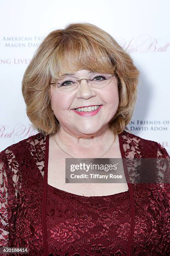
[[[159, 143], [126, 131], [119, 142], [122, 158], [170, 159]], [[125, 168], [128, 191], [75, 195], [47, 184], [48, 152], [49, 135], [37, 133], [0, 153], [0, 247], [31, 256], [170, 254], [169, 183], [135, 184]], [[169, 166], [160, 171], [168, 180]]]

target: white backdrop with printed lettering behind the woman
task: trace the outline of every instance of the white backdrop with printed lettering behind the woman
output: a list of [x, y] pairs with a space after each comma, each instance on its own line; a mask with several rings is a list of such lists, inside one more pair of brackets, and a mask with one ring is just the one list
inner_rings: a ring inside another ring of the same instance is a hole
[[0, 151], [37, 133], [21, 80], [42, 38], [68, 23], [89, 22], [110, 33], [140, 70], [130, 131], [170, 154], [169, 10], [168, 0], [0, 0]]

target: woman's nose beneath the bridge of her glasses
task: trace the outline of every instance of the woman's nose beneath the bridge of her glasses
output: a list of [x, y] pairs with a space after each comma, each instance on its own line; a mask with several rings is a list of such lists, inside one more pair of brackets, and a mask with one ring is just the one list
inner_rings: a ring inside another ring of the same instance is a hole
[[80, 84], [76, 93], [77, 98], [88, 99], [94, 97], [96, 93], [93, 88], [89, 85], [86, 78], [80, 79]]

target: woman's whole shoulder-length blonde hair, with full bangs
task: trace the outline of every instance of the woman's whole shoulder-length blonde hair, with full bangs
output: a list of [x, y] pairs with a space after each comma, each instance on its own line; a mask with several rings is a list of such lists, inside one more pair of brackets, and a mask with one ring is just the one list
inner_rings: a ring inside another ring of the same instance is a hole
[[52, 31], [32, 57], [22, 80], [32, 127], [44, 135], [57, 133], [60, 123], [51, 109], [50, 81], [80, 69], [116, 73], [119, 105], [109, 125], [115, 135], [122, 133], [133, 115], [139, 71], [110, 34], [90, 23], [71, 23]]

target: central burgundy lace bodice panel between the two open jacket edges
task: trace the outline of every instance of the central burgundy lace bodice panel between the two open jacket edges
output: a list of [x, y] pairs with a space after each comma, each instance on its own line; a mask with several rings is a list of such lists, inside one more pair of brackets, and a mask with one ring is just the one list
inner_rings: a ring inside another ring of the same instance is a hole
[[83, 197], [48, 186], [47, 233], [50, 255], [125, 255], [130, 236], [128, 191]]

